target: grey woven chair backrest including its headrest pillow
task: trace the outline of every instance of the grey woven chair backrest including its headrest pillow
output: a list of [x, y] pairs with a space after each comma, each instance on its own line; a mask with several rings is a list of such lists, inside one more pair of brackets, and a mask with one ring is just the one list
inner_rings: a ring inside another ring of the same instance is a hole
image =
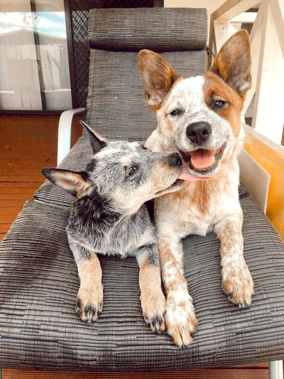
[[93, 9], [86, 119], [110, 139], [144, 140], [156, 127], [141, 84], [137, 53], [160, 52], [185, 77], [204, 73], [205, 9]]

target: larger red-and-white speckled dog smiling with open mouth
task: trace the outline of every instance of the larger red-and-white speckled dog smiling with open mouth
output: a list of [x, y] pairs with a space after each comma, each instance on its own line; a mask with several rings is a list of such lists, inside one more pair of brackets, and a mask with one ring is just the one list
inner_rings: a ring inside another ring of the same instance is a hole
[[251, 303], [253, 280], [243, 256], [243, 214], [238, 197], [237, 154], [242, 143], [241, 111], [251, 86], [250, 42], [245, 30], [221, 48], [204, 76], [179, 77], [150, 50], [139, 52], [146, 102], [158, 127], [146, 146], [183, 157], [178, 192], [155, 200], [155, 222], [166, 289], [167, 332], [188, 345], [197, 329], [183, 276], [181, 238], [215, 231], [221, 241], [223, 290], [240, 307]]

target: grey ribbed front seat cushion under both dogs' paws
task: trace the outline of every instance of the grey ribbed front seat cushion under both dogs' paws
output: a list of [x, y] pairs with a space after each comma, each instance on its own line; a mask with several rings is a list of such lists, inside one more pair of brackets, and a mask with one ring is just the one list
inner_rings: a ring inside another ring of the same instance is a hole
[[244, 254], [255, 283], [249, 308], [221, 289], [216, 235], [184, 239], [184, 274], [198, 332], [186, 349], [143, 321], [134, 258], [99, 257], [104, 310], [75, 313], [77, 268], [66, 239], [68, 210], [28, 201], [0, 245], [0, 365], [14, 368], [144, 371], [218, 367], [284, 358], [284, 251], [251, 197], [243, 196]]

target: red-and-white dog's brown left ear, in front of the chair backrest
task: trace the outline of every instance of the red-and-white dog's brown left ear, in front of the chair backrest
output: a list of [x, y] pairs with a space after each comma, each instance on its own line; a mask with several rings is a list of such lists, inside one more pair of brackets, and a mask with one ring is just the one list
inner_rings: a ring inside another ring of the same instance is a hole
[[141, 50], [138, 59], [146, 103], [155, 112], [178, 76], [168, 62], [154, 51]]

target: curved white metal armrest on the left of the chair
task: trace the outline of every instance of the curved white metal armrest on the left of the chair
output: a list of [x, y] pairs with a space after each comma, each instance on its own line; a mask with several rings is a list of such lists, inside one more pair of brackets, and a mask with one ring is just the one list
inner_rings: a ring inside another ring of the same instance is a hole
[[86, 108], [76, 108], [65, 110], [61, 113], [58, 124], [57, 137], [57, 165], [70, 151], [71, 128], [73, 116], [77, 113], [82, 113]]

